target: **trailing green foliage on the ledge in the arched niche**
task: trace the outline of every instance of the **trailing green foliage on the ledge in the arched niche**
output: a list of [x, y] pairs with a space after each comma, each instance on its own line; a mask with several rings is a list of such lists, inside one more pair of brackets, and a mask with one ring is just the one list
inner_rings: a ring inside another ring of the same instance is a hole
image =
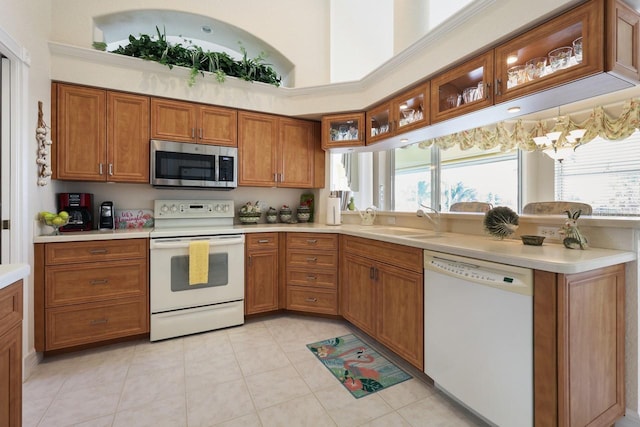
[[[256, 58], [249, 58], [247, 50], [240, 44], [243, 57], [235, 60], [226, 52], [205, 51], [191, 41], [185, 40], [188, 42], [187, 45], [168, 43], [165, 32], [160, 32], [158, 27], [156, 32], [157, 36], [140, 34], [140, 37], [136, 38], [130, 35], [128, 45], [119, 46], [111, 53], [155, 61], [169, 68], [173, 68], [174, 65], [190, 68], [189, 86], [195, 84], [198, 74], [204, 76], [205, 71], [213, 73], [220, 83], [224, 82], [226, 76], [232, 76], [246, 81], [280, 86], [282, 78], [269, 64], [265, 63], [267, 55], [264, 52]], [[94, 43], [93, 47], [106, 50], [106, 44], [100, 42]]]

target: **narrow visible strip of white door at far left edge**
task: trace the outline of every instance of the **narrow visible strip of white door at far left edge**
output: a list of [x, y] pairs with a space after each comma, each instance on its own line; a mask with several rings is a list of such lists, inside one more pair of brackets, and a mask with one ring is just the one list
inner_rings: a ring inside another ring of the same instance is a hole
[[[0, 54], [0, 264], [11, 262], [9, 213], [11, 212], [11, 62]], [[5, 224], [7, 225], [5, 227]]]

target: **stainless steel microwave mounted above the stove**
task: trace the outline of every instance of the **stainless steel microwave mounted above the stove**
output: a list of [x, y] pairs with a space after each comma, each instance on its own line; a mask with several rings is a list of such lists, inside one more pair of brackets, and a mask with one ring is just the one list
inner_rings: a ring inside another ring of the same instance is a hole
[[151, 140], [151, 185], [231, 190], [238, 185], [238, 149]]

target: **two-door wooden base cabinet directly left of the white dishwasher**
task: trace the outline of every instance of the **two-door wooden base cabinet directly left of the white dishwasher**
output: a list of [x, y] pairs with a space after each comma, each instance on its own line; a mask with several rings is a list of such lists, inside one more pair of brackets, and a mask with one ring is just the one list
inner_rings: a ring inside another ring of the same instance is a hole
[[[422, 371], [422, 250], [351, 236], [340, 250], [342, 316]], [[398, 256], [401, 267], [388, 262]]]

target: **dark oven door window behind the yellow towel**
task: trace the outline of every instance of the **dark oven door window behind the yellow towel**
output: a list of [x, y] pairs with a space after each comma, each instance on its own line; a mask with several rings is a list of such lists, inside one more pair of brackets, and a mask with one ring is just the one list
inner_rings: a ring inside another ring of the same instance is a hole
[[189, 255], [171, 257], [171, 291], [225, 286], [229, 283], [228, 254], [209, 254], [209, 281], [198, 285], [189, 285]]

